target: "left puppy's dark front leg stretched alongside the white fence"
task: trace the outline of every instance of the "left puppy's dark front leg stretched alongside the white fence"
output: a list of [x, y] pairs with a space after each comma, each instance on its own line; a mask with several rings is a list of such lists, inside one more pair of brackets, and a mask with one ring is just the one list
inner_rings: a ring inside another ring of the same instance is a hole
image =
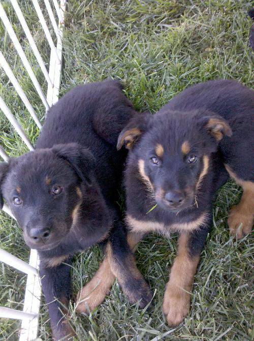
[[40, 277], [42, 290], [49, 309], [54, 340], [73, 340], [75, 333], [65, 318], [65, 306], [68, 307], [71, 294], [71, 267], [66, 264], [60, 264], [50, 268], [43, 265], [43, 261], [41, 264]]

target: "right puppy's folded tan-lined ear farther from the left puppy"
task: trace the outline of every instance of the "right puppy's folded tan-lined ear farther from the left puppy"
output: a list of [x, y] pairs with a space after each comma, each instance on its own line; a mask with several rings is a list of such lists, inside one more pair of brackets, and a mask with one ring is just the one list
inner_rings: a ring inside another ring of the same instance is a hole
[[229, 123], [219, 115], [204, 117], [204, 120], [205, 128], [217, 141], [220, 141], [224, 135], [232, 136]]

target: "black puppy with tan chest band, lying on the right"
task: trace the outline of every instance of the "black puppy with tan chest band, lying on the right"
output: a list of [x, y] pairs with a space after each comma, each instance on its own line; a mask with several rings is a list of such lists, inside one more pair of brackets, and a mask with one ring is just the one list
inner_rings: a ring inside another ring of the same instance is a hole
[[238, 238], [251, 231], [254, 92], [225, 80], [189, 87], [157, 114], [136, 115], [119, 136], [118, 149], [123, 145], [131, 149], [125, 172], [130, 246], [149, 231], [179, 233], [163, 304], [168, 323], [176, 326], [189, 310], [214, 195], [229, 175], [243, 188], [229, 215], [230, 230]]

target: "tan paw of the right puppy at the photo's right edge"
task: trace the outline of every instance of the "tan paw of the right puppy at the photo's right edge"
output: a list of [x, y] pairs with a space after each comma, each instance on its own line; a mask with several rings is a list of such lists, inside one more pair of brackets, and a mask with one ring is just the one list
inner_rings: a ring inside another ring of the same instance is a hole
[[238, 204], [230, 210], [228, 225], [232, 235], [238, 239], [251, 232], [253, 226], [253, 214], [245, 213]]

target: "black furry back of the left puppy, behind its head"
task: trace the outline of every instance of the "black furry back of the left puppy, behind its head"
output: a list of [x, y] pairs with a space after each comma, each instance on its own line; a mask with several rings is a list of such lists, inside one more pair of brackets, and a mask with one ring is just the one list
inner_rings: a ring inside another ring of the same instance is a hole
[[87, 146], [96, 136], [116, 146], [123, 126], [135, 113], [118, 81], [81, 85], [69, 91], [47, 114], [36, 148], [77, 142]]

